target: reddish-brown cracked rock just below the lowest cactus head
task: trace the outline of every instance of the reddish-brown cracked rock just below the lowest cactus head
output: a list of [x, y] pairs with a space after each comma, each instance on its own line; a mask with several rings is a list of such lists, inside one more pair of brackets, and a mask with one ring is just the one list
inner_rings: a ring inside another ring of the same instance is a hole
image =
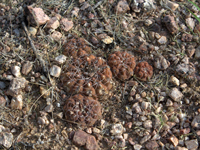
[[78, 130], [73, 137], [73, 143], [77, 146], [85, 146], [87, 150], [98, 150], [99, 146], [94, 136]]

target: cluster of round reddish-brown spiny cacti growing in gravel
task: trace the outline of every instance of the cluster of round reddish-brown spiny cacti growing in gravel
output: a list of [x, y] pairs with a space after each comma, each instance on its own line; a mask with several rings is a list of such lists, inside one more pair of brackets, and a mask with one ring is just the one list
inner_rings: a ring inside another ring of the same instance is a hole
[[153, 75], [152, 66], [147, 62], [136, 65], [134, 56], [125, 51], [110, 54], [107, 65], [103, 58], [90, 54], [91, 49], [82, 38], [68, 40], [63, 49], [63, 54], [71, 58], [61, 74], [64, 90], [72, 95], [66, 100], [65, 116], [81, 125], [92, 126], [101, 117], [98, 100], [110, 96], [113, 75], [121, 81], [129, 79], [134, 72], [142, 81]]

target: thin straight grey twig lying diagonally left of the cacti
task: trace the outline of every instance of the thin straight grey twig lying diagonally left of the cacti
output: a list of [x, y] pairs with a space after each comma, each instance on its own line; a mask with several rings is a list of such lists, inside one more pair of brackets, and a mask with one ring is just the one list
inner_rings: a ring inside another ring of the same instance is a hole
[[30, 36], [28, 34], [27, 27], [26, 27], [26, 25], [25, 25], [25, 23], [23, 21], [22, 21], [22, 26], [24, 28], [26, 36], [28, 37], [28, 40], [30, 42], [30, 45], [31, 45], [33, 51], [34, 51], [34, 54], [35, 54], [36, 58], [40, 61], [40, 64], [42, 65], [44, 73], [47, 73], [47, 68], [45, 67], [45, 61], [42, 58], [42, 56], [39, 54], [38, 50], [35, 48], [35, 45], [33, 44], [33, 41], [32, 41], [32, 39], [30, 38]]

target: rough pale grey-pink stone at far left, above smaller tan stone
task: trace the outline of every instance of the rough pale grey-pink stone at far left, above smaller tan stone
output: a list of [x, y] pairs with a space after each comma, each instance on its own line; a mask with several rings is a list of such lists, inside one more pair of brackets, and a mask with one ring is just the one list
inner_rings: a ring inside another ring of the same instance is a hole
[[25, 78], [22, 77], [14, 78], [10, 82], [7, 94], [11, 96], [19, 95], [27, 84], [28, 81]]

